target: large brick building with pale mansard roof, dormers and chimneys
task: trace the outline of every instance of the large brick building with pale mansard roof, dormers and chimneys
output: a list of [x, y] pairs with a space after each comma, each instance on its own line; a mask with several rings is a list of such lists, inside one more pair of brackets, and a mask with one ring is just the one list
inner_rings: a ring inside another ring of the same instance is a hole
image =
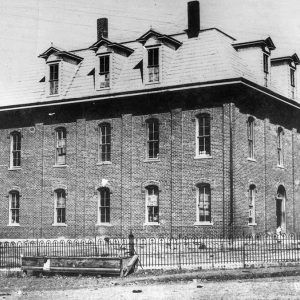
[[150, 29], [40, 55], [0, 108], [2, 238], [300, 230], [296, 54]]

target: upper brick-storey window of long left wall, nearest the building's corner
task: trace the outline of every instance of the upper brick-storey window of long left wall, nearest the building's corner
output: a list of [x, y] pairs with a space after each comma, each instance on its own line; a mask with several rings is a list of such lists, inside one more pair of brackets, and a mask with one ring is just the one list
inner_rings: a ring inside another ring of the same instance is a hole
[[196, 140], [196, 155], [209, 156], [210, 149], [210, 115], [201, 114], [197, 117], [197, 140]]

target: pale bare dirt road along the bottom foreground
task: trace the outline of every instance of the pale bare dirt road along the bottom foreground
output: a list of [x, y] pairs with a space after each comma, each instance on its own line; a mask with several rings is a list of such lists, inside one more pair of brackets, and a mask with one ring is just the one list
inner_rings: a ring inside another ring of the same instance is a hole
[[[19, 287], [21, 288], [21, 287]], [[248, 280], [189, 280], [125, 286], [95, 285], [85, 288], [44, 291], [15, 291], [0, 299], [300, 299], [300, 276]]]

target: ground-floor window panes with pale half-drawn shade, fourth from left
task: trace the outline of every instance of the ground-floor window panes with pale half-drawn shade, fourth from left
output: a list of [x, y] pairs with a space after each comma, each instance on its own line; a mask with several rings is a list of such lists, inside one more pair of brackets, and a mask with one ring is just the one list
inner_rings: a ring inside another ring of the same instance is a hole
[[146, 223], [159, 222], [158, 187], [146, 187]]

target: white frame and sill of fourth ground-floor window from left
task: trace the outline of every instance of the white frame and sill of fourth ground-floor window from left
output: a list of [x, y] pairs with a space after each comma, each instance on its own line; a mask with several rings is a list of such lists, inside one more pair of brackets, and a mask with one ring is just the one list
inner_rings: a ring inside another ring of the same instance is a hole
[[[152, 190], [153, 193], [149, 195], [149, 191]], [[145, 225], [159, 225], [159, 219], [160, 219], [160, 213], [159, 213], [159, 187], [157, 185], [148, 185], [145, 187]], [[151, 199], [149, 198], [151, 197]], [[155, 204], [156, 205], [149, 205], [149, 204]], [[149, 207], [153, 208], [153, 220], [149, 221]], [[154, 211], [154, 207], [157, 207], [157, 212]], [[155, 219], [156, 216], [156, 220]]]

